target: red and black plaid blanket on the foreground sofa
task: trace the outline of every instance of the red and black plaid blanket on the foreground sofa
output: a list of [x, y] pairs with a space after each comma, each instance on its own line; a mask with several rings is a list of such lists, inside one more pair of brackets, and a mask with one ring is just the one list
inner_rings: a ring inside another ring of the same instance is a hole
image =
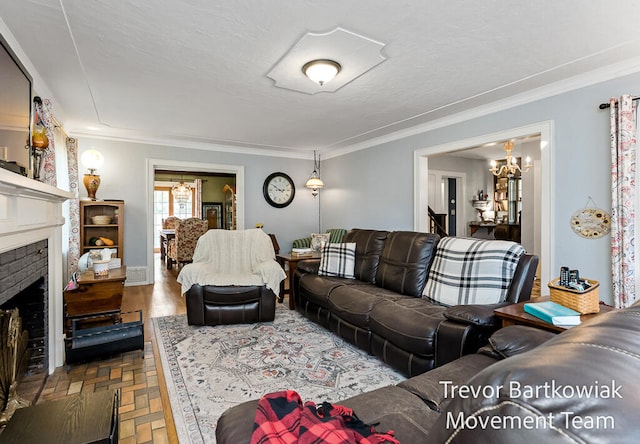
[[353, 410], [328, 402], [304, 404], [293, 390], [264, 395], [258, 402], [251, 444], [329, 443], [400, 444], [393, 431], [378, 433]]

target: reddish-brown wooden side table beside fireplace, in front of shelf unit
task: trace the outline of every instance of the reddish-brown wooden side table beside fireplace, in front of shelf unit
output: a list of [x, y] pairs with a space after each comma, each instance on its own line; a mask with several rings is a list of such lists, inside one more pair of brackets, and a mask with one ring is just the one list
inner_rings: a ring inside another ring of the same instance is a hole
[[71, 335], [71, 320], [106, 312], [120, 312], [127, 267], [109, 270], [108, 276], [95, 277], [93, 270], [78, 276], [78, 288], [64, 292], [65, 330]]

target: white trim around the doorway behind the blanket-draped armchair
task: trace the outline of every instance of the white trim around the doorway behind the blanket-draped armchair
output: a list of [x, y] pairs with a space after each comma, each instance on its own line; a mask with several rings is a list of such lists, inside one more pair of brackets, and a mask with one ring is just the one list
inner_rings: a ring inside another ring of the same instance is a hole
[[244, 230], [244, 166], [147, 158], [147, 267], [149, 270], [149, 283], [151, 284], [155, 282], [153, 236], [156, 236], [156, 233], [153, 231], [153, 188], [154, 175], [157, 169], [235, 174], [236, 227], [238, 230]]

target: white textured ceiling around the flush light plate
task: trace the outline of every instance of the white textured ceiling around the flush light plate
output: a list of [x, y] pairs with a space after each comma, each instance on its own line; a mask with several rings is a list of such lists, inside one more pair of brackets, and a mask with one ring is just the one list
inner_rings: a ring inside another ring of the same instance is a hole
[[[20, 0], [0, 17], [69, 133], [265, 154], [366, 147], [640, 70], [636, 0]], [[332, 93], [267, 77], [306, 33], [336, 27], [384, 44], [384, 61]]]

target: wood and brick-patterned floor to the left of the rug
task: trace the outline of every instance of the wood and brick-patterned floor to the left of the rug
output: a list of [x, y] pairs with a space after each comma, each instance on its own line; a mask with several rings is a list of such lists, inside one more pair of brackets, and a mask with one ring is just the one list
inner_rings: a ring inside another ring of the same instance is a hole
[[76, 393], [121, 389], [119, 443], [177, 443], [171, 406], [151, 318], [185, 313], [176, 282], [178, 271], [167, 270], [156, 255], [155, 285], [125, 287], [122, 311], [142, 309], [145, 351], [124, 353], [112, 359], [64, 367], [47, 378], [37, 403]]

